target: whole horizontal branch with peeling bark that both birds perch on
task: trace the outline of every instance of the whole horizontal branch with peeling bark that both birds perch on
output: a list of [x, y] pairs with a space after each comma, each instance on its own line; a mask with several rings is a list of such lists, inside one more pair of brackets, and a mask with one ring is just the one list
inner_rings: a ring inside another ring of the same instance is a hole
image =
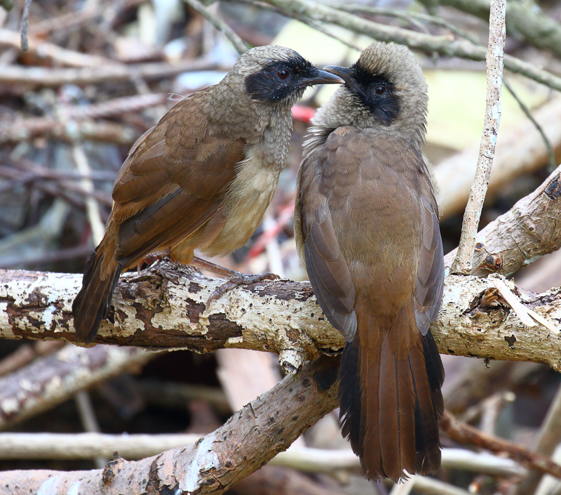
[[[71, 303], [79, 275], [6, 271], [0, 278], [0, 337], [74, 339]], [[197, 352], [271, 350], [289, 371], [342, 348], [342, 336], [323, 317], [309, 283], [250, 284], [206, 308], [219, 283], [189, 268], [175, 270], [171, 263], [127, 275], [96, 341]], [[431, 327], [440, 351], [545, 362], [561, 371], [561, 335], [525, 326], [508, 306], [494, 301], [494, 294], [491, 277], [447, 277], [442, 309]], [[559, 326], [561, 289], [524, 297], [529, 308]]]

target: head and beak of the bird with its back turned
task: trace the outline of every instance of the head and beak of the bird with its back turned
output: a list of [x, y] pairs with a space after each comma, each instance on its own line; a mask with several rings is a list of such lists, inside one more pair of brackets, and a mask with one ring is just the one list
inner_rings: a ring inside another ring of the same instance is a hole
[[377, 42], [365, 48], [350, 68], [330, 66], [325, 70], [342, 77], [345, 85], [320, 109], [314, 124], [394, 127], [424, 140], [426, 82], [409, 48]]

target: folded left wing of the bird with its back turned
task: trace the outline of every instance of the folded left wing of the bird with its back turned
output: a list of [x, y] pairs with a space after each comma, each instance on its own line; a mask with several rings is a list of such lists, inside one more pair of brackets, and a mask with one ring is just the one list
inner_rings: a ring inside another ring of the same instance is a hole
[[[297, 217], [306, 271], [327, 320], [351, 342], [356, 333], [355, 287], [334, 231], [327, 197], [318, 175], [329, 154], [315, 152], [302, 161]], [[303, 201], [303, 197], [306, 200]], [[311, 199], [311, 201], [308, 200]]]

